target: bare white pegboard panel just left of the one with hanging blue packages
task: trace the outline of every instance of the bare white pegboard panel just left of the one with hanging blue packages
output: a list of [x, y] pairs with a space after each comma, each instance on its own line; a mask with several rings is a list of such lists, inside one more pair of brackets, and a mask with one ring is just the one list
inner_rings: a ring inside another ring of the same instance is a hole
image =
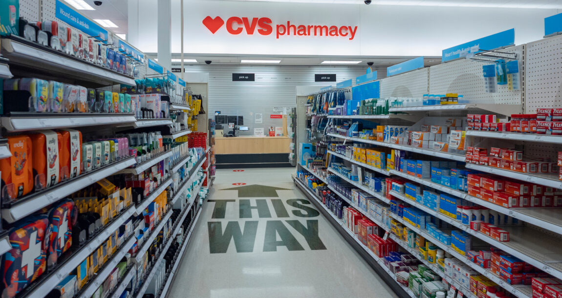
[[423, 97], [428, 93], [428, 71], [427, 68], [418, 69], [381, 79], [380, 98]]

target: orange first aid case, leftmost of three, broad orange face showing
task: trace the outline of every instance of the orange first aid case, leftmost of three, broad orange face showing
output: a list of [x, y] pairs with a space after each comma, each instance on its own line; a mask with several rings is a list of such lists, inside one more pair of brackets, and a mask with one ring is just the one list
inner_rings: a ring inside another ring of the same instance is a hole
[[[7, 137], [12, 157], [0, 159], [2, 189], [8, 186], [10, 198], [21, 197], [33, 190], [31, 139], [28, 136]], [[13, 187], [10, 186], [13, 184]]]

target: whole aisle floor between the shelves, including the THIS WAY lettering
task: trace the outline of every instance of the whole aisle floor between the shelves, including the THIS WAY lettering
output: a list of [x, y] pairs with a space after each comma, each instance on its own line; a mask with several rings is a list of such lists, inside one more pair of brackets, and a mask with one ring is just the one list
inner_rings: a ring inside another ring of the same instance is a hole
[[293, 173], [217, 170], [168, 297], [396, 297]]

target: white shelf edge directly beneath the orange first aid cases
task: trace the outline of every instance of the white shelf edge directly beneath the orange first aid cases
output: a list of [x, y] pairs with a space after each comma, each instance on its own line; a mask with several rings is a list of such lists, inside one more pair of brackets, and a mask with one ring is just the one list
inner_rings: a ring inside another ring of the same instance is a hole
[[25, 218], [25, 216], [33, 214], [35, 211], [47, 207], [53, 204], [53, 202], [61, 200], [61, 198], [75, 192], [76, 189], [96, 183], [97, 181], [134, 164], [135, 158], [130, 156], [124, 160], [103, 166], [103, 168], [90, 171], [89, 173], [83, 173], [76, 178], [56, 184], [55, 186], [44, 189], [38, 193], [32, 193], [29, 196], [19, 198], [17, 201], [10, 204], [10, 206], [3, 207], [1, 209], [2, 219], [5, 219], [8, 223], [16, 222], [16, 220]]

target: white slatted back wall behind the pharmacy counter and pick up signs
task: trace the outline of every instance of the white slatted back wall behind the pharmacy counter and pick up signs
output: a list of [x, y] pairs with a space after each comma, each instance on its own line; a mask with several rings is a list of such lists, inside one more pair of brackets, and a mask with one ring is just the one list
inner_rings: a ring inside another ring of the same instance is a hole
[[[337, 75], [337, 82], [353, 79], [365, 73], [365, 66], [225, 66], [197, 65], [185, 67], [187, 72], [209, 73], [209, 110], [207, 115], [214, 117], [215, 111], [222, 115], [241, 115], [244, 125], [253, 128], [282, 126], [282, 120], [270, 119], [274, 106], [295, 107], [295, 87], [302, 85], [336, 85], [336, 83], [316, 83], [314, 74]], [[386, 71], [386, 70], [385, 70]], [[379, 70], [381, 73], [382, 70]], [[255, 82], [232, 82], [232, 73], [255, 73]], [[188, 81], [189, 83], [189, 81]], [[262, 124], [255, 124], [255, 114], [262, 113]], [[200, 116], [201, 117], [201, 116]], [[241, 132], [241, 135], [243, 133]]]

